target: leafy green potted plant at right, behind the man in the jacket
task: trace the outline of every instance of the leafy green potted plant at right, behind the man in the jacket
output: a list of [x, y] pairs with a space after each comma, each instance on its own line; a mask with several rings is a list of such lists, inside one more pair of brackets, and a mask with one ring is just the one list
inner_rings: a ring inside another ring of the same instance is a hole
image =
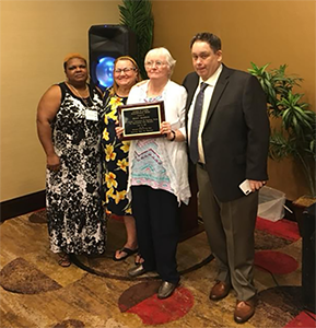
[[[286, 74], [286, 65], [270, 71], [269, 63], [258, 67], [251, 62], [251, 66], [248, 71], [258, 78], [267, 95], [270, 120], [277, 120], [272, 124], [269, 156], [276, 161], [290, 157], [299, 163], [309, 195], [293, 203], [306, 208], [316, 201], [316, 113], [302, 101], [303, 94], [294, 92], [303, 79]], [[296, 220], [300, 223], [297, 215]]]

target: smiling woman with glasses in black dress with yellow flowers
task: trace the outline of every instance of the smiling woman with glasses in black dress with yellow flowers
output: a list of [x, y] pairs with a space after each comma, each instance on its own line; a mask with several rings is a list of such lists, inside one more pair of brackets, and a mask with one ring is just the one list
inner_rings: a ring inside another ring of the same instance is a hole
[[115, 127], [118, 119], [117, 107], [125, 105], [130, 89], [140, 80], [136, 61], [122, 56], [114, 62], [114, 84], [105, 91], [105, 116], [102, 144], [104, 148], [104, 201], [109, 214], [122, 216], [127, 241], [121, 249], [115, 251], [113, 259], [124, 260], [137, 253], [138, 243], [134, 219], [126, 197], [128, 177], [129, 142], [116, 137]]

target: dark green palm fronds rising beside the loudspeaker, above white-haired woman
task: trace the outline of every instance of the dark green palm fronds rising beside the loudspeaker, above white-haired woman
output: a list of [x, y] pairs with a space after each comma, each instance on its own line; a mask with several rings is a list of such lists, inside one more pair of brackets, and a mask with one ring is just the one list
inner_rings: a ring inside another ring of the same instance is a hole
[[144, 69], [144, 56], [152, 48], [153, 15], [150, 0], [122, 0], [119, 5], [120, 23], [127, 26], [136, 35], [137, 56], [136, 61], [143, 79], [147, 79]]

